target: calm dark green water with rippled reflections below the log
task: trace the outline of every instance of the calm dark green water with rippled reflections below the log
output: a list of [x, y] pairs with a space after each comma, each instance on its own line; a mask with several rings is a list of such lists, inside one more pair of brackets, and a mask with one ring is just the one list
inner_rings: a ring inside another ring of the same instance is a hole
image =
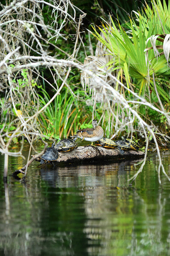
[[[170, 151], [161, 157], [170, 175]], [[134, 163], [44, 170], [33, 162], [24, 182], [10, 174], [25, 161], [10, 157], [4, 187], [0, 156], [0, 255], [170, 255], [170, 182], [161, 174], [159, 185], [157, 156], [149, 152], [128, 187]]]

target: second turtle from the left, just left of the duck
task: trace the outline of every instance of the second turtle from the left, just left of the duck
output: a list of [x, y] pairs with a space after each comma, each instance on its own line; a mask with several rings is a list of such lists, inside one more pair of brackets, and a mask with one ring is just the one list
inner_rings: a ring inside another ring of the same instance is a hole
[[63, 140], [58, 141], [57, 143], [56, 143], [56, 141], [53, 142], [51, 147], [57, 149], [57, 151], [59, 151], [59, 152], [68, 152], [68, 151], [71, 151], [71, 150], [77, 148], [78, 144], [71, 139], [63, 139]]

